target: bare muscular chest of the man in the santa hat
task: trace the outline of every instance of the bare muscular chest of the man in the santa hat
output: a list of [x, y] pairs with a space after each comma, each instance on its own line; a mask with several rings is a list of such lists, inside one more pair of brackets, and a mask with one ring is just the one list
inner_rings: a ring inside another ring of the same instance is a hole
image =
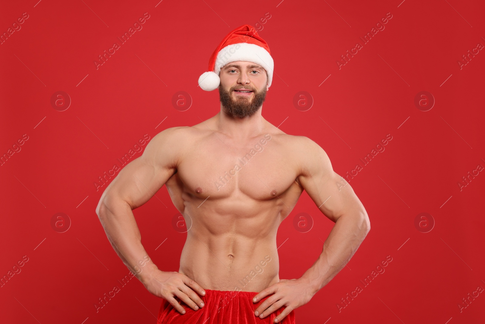
[[179, 164], [177, 176], [182, 191], [197, 198], [244, 195], [263, 201], [290, 188], [297, 170], [291, 152], [270, 136], [238, 148], [220, 140], [194, 145]]

